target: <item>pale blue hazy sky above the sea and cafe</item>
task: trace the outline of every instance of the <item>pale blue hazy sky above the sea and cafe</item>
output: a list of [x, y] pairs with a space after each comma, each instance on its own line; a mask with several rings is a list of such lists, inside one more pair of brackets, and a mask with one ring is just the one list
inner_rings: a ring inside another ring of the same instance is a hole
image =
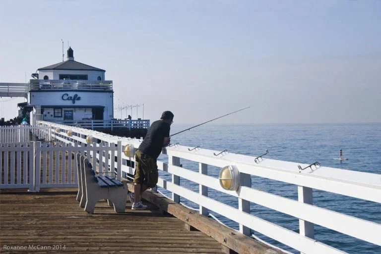
[[62, 61], [61, 39], [151, 120], [381, 122], [381, 0], [1, 0], [0, 82]]

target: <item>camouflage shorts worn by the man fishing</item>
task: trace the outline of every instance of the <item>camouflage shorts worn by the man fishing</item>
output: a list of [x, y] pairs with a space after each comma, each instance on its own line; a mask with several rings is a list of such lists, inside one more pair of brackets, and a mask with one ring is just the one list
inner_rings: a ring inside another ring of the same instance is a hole
[[157, 184], [159, 173], [157, 171], [156, 160], [150, 155], [137, 150], [135, 152], [135, 173], [133, 183], [144, 184], [153, 188]]

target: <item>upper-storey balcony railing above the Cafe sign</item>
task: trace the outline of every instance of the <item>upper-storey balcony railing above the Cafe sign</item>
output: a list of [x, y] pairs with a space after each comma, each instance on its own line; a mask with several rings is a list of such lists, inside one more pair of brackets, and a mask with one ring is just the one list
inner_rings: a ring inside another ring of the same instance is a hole
[[112, 91], [111, 80], [40, 80], [31, 79], [30, 91], [36, 90], [89, 90], [89, 91]]

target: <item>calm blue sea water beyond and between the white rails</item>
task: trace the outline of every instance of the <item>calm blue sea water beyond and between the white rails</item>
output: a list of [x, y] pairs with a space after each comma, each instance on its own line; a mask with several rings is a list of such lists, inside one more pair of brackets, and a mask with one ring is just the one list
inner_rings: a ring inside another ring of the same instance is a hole
[[[189, 128], [189, 125], [171, 127], [171, 133]], [[171, 138], [171, 143], [258, 156], [268, 149], [267, 158], [299, 163], [318, 161], [322, 166], [381, 174], [381, 123], [375, 124], [262, 124], [262, 125], [203, 125]], [[339, 150], [349, 160], [339, 161]], [[161, 155], [159, 159], [164, 159]], [[183, 167], [198, 171], [198, 163], [181, 160]], [[208, 174], [218, 177], [220, 168], [208, 167]], [[160, 172], [161, 177], [170, 180], [170, 175]], [[181, 179], [181, 185], [198, 192], [198, 185]], [[269, 179], [252, 177], [255, 189], [297, 200], [297, 186]], [[170, 193], [167, 193], [170, 194]], [[209, 197], [238, 208], [238, 199], [209, 189]], [[314, 205], [330, 210], [381, 223], [381, 204], [354, 199], [329, 192], [314, 190]], [[184, 198], [192, 207], [198, 208]], [[259, 218], [299, 232], [297, 218], [251, 203], [251, 213]], [[238, 229], [238, 224], [215, 214], [228, 226]], [[287, 251], [298, 253], [272, 239], [255, 235]], [[375, 232], [380, 234], [381, 232]], [[366, 243], [333, 230], [315, 225], [315, 238], [329, 246], [353, 254], [381, 254], [381, 246]]]

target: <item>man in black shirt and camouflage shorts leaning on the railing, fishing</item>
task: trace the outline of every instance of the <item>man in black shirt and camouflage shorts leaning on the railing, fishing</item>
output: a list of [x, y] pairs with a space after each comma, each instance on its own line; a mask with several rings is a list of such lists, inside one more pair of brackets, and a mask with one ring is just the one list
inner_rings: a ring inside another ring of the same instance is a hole
[[156, 186], [158, 181], [157, 157], [163, 147], [169, 145], [171, 138], [169, 131], [173, 123], [174, 114], [164, 111], [160, 120], [149, 127], [147, 135], [135, 152], [135, 174], [133, 175], [133, 193], [128, 193], [132, 210], [147, 209], [147, 205], [141, 203], [141, 194], [148, 188]]

